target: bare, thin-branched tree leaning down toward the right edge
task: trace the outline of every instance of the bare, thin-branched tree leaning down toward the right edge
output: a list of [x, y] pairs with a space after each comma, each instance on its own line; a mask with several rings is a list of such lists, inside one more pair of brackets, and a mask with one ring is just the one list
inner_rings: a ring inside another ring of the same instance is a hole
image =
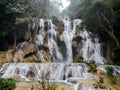
[[115, 34], [115, 29], [113, 27], [115, 12], [113, 11], [112, 2], [108, 2], [107, 0], [104, 2], [104, 12], [99, 11], [98, 17], [100, 20], [100, 25], [103, 27], [103, 30], [109, 34], [110, 38], [112, 38], [116, 45], [119, 47], [119, 40]]

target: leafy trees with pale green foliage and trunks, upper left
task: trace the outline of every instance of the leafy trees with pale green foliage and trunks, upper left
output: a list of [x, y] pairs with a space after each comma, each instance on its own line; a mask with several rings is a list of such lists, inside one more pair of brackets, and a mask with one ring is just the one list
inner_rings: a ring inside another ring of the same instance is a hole
[[32, 42], [35, 44], [38, 30], [39, 18], [48, 17], [47, 6], [49, 0], [1, 0], [0, 1], [0, 39], [14, 34], [14, 45], [16, 47], [16, 32], [21, 30], [31, 31], [32, 24], [35, 23]]

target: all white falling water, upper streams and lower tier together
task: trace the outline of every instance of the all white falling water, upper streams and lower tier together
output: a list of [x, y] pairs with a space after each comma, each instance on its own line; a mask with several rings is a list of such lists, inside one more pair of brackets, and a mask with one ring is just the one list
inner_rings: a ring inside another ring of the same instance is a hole
[[[48, 30], [46, 30], [46, 32], [44, 30], [45, 22], [48, 23]], [[36, 43], [39, 47], [45, 45], [47, 42], [47, 47], [54, 63], [4, 64], [0, 70], [4, 72], [2, 78], [15, 77], [18, 75], [25, 80], [30, 80], [30, 77], [34, 77], [35, 80], [39, 80], [44, 76], [46, 80], [65, 80], [66, 82], [69, 81], [68, 79], [71, 77], [77, 77], [79, 79], [93, 79], [94, 76], [88, 73], [86, 64], [70, 63], [73, 61], [72, 40], [76, 35], [76, 26], [79, 25], [80, 22], [80, 19], [75, 19], [73, 21], [70, 21], [69, 19], [64, 20], [64, 31], [62, 33], [62, 37], [63, 42], [65, 43], [64, 47], [66, 47], [66, 53], [63, 55], [59, 48], [60, 46], [58, 46], [57, 43], [58, 36], [54, 24], [51, 20], [45, 21], [44, 19], [40, 19]], [[104, 58], [100, 52], [99, 39], [92, 38], [90, 34], [91, 33], [86, 30], [80, 32], [80, 36], [82, 37], [82, 48], [80, 49], [81, 56], [88, 62], [90, 60], [94, 60], [98, 64], [104, 64]], [[46, 41], [44, 40], [45, 36]], [[38, 53], [41, 61], [45, 61], [42, 52], [43, 50], [40, 50]], [[76, 84], [73, 90], [78, 90], [78, 84]], [[86, 87], [83, 86], [79, 90], [88, 90], [88, 88], [86, 89]]]

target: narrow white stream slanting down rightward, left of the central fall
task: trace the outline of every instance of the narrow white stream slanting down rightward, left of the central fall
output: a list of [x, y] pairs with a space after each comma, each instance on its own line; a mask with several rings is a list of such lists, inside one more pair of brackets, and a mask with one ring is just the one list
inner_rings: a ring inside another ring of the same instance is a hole
[[57, 45], [57, 32], [54, 28], [52, 21], [48, 20], [48, 47], [53, 56], [53, 62], [62, 62], [63, 57]]

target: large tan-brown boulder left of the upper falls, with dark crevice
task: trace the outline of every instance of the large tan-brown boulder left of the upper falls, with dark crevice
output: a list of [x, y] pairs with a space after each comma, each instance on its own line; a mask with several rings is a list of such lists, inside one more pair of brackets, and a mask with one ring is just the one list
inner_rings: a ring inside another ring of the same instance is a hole
[[27, 61], [28, 59], [29, 61], [33, 61], [36, 59], [35, 52], [36, 52], [36, 48], [34, 44], [23, 42], [17, 46], [17, 50], [14, 53], [13, 61], [22, 62], [24, 60]]

